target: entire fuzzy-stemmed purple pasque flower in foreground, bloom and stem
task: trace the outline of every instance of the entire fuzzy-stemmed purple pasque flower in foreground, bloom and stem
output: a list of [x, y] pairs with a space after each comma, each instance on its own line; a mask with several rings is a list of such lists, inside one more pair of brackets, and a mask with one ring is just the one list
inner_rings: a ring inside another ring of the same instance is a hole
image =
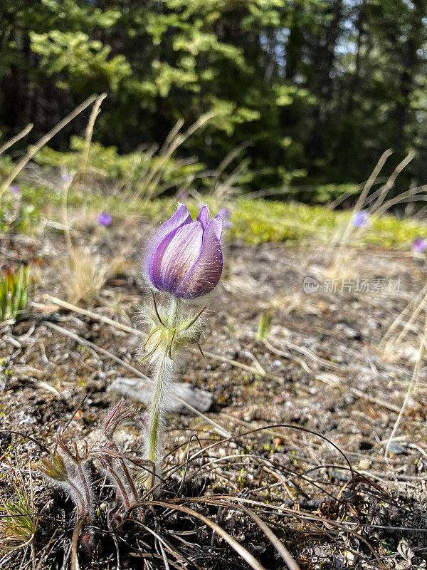
[[222, 231], [220, 214], [209, 219], [208, 208], [203, 206], [193, 220], [181, 204], [149, 244], [144, 272], [154, 289], [169, 293], [169, 300], [157, 306], [152, 291], [154, 306], [144, 309], [149, 333], [142, 345], [142, 360], [149, 361], [154, 380], [145, 431], [145, 459], [152, 466], [145, 480], [147, 489], [159, 487], [165, 401], [172, 393], [176, 354], [187, 344], [200, 348], [201, 314], [206, 306], [196, 315], [187, 314], [185, 300], [206, 295], [218, 284], [223, 269]]

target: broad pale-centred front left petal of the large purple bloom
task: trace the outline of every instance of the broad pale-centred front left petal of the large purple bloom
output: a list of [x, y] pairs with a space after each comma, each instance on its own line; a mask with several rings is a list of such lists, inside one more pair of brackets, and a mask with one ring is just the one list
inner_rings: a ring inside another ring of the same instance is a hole
[[167, 234], [152, 254], [149, 277], [161, 291], [176, 292], [198, 259], [203, 244], [200, 222], [184, 224]]

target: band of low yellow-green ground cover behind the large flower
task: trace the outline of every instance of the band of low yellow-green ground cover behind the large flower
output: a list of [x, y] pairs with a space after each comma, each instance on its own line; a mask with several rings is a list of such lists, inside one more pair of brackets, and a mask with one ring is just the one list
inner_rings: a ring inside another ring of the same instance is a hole
[[[32, 187], [20, 184], [21, 211], [31, 209], [26, 221], [19, 226], [11, 224], [9, 231], [33, 232], [43, 217], [61, 222], [61, 204], [63, 195], [58, 188]], [[330, 187], [331, 195], [339, 195], [342, 187], [334, 190]], [[4, 208], [5, 198], [0, 201], [0, 212]], [[236, 199], [225, 202], [214, 197], [207, 197], [211, 212], [218, 212], [221, 207], [231, 211], [231, 227], [226, 230], [226, 239], [247, 244], [262, 244], [265, 242], [288, 242], [300, 244], [302, 242], [321, 241], [330, 243], [334, 237], [349, 222], [351, 214], [329, 209], [322, 205], [310, 206], [297, 202], [281, 202], [266, 199]], [[199, 200], [186, 199], [191, 215], [199, 211]], [[84, 208], [85, 212], [93, 212], [91, 218], [95, 219], [100, 212], [110, 212], [115, 225], [125, 223], [129, 215], [137, 215], [147, 222], [159, 224], [172, 215], [176, 206], [176, 199], [137, 199], [132, 203], [123, 199], [122, 195], [107, 195], [93, 191], [83, 192], [70, 188], [68, 192], [68, 206], [74, 209]], [[81, 219], [87, 224], [88, 218]], [[80, 224], [80, 216], [75, 217], [76, 227]], [[85, 226], [86, 227], [86, 226]], [[8, 229], [4, 224], [4, 231]], [[382, 215], [374, 219], [369, 228], [362, 233], [357, 245], [372, 245], [389, 249], [406, 249], [411, 242], [421, 236], [427, 239], [427, 226], [416, 219], [399, 219], [393, 215]]]

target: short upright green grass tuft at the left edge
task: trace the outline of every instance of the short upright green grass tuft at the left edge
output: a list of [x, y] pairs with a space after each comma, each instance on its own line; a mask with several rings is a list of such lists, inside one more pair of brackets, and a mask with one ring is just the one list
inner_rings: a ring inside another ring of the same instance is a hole
[[30, 266], [20, 266], [17, 271], [6, 270], [0, 276], [0, 321], [16, 318], [26, 308], [30, 271]]

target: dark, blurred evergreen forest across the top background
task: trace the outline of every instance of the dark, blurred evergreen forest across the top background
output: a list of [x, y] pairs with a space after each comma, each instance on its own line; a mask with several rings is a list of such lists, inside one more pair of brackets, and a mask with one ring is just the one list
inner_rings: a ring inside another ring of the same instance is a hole
[[416, 152], [405, 183], [423, 184], [426, 49], [427, 0], [2, 0], [1, 141], [105, 91], [102, 145], [161, 144], [211, 112], [179, 153], [214, 168], [235, 151], [245, 190], [362, 182], [388, 147], [391, 167]]

